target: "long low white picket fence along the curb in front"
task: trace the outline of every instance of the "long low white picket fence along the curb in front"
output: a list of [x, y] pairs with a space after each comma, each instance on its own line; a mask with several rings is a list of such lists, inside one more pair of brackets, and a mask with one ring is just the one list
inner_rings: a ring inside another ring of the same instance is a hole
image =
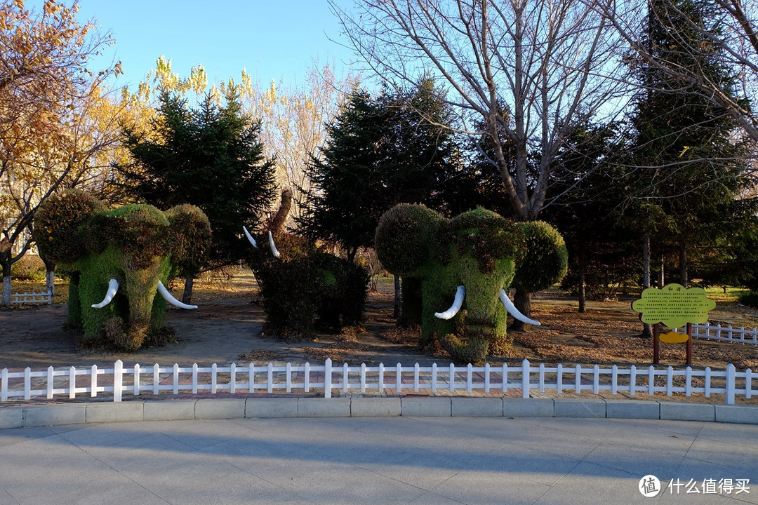
[[114, 401], [121, 401], [124, 394], [198, 394], [198, 393], [291, 393], [323, 390], [324, 397], [333, 391], [342, 394], [371, 393], [402, 394], [418, 393], [421, 389], [431, 394], [462, 394], [463, 391], [484, 393], [521, 394], [529, 397], [537, 390], [555, 390], [557, 394], [724, 394], [726, 404], [734, 404], [735, 397], [750, 399], [758, 394], [753, 389], [753, 374], [750, 369], [737, 372], [729, 364], [725, 370], [709, 368], [695, 370], [655, 368], [653, 366], [630, 366], [622, 368], [594, 366], [532, 366], [528, 360], [521, 365], [503, 366], [334, 366], [326, 360], [324, 366], [208, 366], [197, 364], [191, 367], [146, 366], [125, 367], [121, 360], [110, 369], [96, 365], [90, 368], [54, 369], [9, 372], [2, 369], [0, 400], [30, 400], [32, 397], [53, 399], [58, 394], [69, 398], [79, 395], [96, 397], [98, 394], [113, 394]]

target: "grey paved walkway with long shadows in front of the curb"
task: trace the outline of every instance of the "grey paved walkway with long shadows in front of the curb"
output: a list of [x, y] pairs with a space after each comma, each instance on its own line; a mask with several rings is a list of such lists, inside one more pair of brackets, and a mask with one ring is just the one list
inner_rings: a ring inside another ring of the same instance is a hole
[[534, 417], [5, 429], [0, 505], [758, 503], [756, 440], [756, 425]]

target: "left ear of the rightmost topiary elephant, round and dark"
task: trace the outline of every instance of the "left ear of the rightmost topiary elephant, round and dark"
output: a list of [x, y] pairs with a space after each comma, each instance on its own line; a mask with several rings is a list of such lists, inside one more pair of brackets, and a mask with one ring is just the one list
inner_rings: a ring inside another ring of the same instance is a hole
[[384, 213], [374, 247], [384, 268], [399, 276], [418, 275], [432, 254], [444, 218], [424, 205], [399, 204]]

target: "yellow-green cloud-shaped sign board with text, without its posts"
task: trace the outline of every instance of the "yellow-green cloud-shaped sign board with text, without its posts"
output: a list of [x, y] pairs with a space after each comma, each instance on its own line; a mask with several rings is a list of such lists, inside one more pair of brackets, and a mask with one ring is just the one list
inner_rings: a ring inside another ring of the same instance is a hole
[[631, 308], [642, 313], [642, 322], [663, 323], [669, 328], [681, 328], [687, 323], [702, 324], [708, 321], [708, 311], [716, 308], [703, 288], [684, 288], [669, 284], [662, 289], [647, 288], [642, 298]]

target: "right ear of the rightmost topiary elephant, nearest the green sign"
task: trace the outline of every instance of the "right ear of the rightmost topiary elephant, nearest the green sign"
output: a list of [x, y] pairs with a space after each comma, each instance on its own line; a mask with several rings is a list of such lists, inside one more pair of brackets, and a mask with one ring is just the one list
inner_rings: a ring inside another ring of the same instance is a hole
[[522, 259], [516, 264], [512, 287], [534, 293], [563, 279], [568, 253], [561, 234], [543, 221], [520, 223], [523, 232]]

